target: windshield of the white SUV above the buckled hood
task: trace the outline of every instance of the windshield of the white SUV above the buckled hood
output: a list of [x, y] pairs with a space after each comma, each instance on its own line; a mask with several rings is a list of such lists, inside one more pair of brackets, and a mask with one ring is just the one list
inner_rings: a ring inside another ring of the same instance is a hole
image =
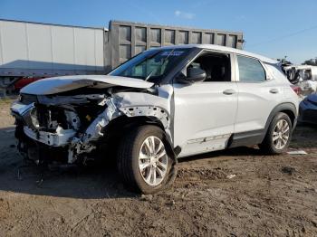
[[189, 49], [160, 49], [142, 52], [111, 71], [110, 75], [159, 83], [186, 57], [188, 51]]

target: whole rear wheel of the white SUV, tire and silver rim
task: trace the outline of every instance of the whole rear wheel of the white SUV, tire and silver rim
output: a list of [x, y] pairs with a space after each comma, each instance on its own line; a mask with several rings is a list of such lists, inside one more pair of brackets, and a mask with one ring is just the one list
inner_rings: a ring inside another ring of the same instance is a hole
[[264, 141], [259, 145], [267, 155], [282, 154], [290, 145], [292, 138], [292, 121], [287, 114], [279, 112], [267, 129]]

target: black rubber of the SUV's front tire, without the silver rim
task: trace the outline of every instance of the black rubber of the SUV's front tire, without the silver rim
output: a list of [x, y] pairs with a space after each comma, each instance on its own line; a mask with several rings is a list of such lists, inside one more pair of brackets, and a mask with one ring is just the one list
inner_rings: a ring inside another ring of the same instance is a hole
[[[148, 185], [141, 175], [139, 169], [139, 152], [143, 142], [151, 136], [159, 137], [163, 142], [168, 167], [166, 175], [159, 185]], [[176, 177], [176, 170], [174, 168], [175, 160], [168, 154], [167, 140], [162, 129], [153, 125], [144, 125], [135, 128], [129, 134], [122, 137], [117, 156], [117, 166], [123, 183], [127, 185], [132, 191], [143, 194], [157, 193], [162, 189], [168, 188]]]

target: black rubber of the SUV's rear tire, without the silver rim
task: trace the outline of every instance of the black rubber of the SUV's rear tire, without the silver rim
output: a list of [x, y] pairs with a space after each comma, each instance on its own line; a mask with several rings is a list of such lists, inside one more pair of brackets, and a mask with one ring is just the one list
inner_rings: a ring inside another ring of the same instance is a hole
[[[277, 123], [279, 121], [286, 121], [289, 127], [289, 135], [288, 135], [288, 140], [285, 143], [285, 145], [281, 148], [277, 148], [274, 146], [274, 129], [277, 126]], [[293, 125], [291, 119], [288, 117], [287, 114], [283, 112], [279, 112], [274, 119], [272, 120], [269, 128], [267, 129], [266, 135], [264, 137], [264, 141], [259, 144], [260, 149], [264, 154], [266, 155], [278, 155], [284, 153], [288, 146], [290, 145], [291, 139], [292, 139], [292, 132], [293, 132]]]

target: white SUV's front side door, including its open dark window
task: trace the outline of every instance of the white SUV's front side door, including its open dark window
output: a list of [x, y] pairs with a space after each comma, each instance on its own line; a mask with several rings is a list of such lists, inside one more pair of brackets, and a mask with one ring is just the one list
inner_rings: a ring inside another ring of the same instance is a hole
[[207, 80], [174, 83], [174, 144], [182, 148], [179, 156], [223, 149], [234, 133], [237, 86], [232, 63], [229, 53], [203, 52], [188, 67], [207, 71]]

